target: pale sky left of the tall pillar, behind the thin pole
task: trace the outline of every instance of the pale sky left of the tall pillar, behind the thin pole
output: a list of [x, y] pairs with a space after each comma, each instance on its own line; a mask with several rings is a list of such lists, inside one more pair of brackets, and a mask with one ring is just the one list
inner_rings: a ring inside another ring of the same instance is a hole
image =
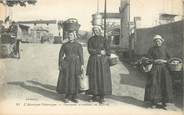
[[[77, 18], [81, 29], [90, 29], [92, 14], [97, 11], [97, 0], [37, 0], [35, 6], [14, 7], [14, 20]], [[99, 10], [104, 11], [104, 0], [99, 0]], [[120, 0], [107, 0], [109, 12], [119, 12]]]

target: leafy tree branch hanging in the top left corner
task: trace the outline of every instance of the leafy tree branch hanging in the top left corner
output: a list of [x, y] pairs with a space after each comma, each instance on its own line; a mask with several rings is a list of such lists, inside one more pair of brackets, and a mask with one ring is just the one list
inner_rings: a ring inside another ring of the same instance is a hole
[[0, 0], [0, 3], [13, 7], [15, 5], [26, 6], [27, 4], [36, 4], [37, 0]]

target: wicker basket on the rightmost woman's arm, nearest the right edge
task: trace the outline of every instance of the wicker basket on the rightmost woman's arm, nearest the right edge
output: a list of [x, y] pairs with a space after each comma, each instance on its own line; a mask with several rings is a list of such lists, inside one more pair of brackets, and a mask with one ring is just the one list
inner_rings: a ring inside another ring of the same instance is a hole
[[[179, 63], [176, 63], [176, 64], [172, 63], [172, 61], [175, 61], [175, 60], [179, 61]], [[179, 58], [173, 58], [169, 61], [168, 66], [170, 71], [181, 71], [183, 67], [182, 60]]]

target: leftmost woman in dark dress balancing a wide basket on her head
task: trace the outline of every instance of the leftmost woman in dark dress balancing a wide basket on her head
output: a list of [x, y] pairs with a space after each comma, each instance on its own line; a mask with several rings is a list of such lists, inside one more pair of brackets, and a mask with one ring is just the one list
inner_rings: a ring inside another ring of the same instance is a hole
[[64, 93], [64, 102], [69, 99], [78, 102], [77, 94], [79, 91], [78, 76], [83, 71], [83, 49], [82, 45], [75, 40], [75, 34], [69, 33], [69, 42], [63, 44], [59, 52], [59, 78], [57, 92]]

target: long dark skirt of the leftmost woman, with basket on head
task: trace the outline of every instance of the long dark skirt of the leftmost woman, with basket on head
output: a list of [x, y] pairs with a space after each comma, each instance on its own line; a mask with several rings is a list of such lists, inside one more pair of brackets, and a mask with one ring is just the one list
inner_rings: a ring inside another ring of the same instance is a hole
[[64, 94], [76, 94], [79, 91], [78, 76], [81, 74], [79, 61], [69, 61], [59, 72], [56, 91]]

